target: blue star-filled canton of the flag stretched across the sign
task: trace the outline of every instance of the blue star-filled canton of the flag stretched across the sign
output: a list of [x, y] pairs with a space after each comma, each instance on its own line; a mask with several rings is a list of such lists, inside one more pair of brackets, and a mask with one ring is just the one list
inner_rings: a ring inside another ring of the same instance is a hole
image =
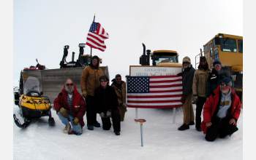
[[149, 77], [148, 76], [128, 76], [127, 93], [148, 93]]

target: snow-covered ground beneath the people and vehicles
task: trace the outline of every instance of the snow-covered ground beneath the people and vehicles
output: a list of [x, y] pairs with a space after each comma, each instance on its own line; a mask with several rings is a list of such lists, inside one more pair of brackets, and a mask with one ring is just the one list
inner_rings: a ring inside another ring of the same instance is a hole
[[[195, 107], [195, 106], [194, 106]], [[195, 110], [194, 110], [195, 111]], [[14, 107], [18, 113], [18, 107]], [[225, 139], [209, 143], [195, 125], [186, 131], [178, 131], [182, 123], [182, 111], [170, 109], [139, 109], [138, 118], [143, 124], [144, 146], [140, 146], [140, 124], [134, 121], [135, 109], [128, 108], [125, 121], [121, 122], [121, 135], [113, 128], [94, 131], [83, 127], [83, 135], [66, 135], [64, 125], [53, 111], [55, 127], [48, 126], [48, 117], [33, 121], [26, 129], [13, 124], [13, 159], [242, 159], [243, 113], [238, 120], [238, 132]], [[84, 117], [86, 120], [86, 117]], [[101, 123], [99, 116], [97, 120]]]

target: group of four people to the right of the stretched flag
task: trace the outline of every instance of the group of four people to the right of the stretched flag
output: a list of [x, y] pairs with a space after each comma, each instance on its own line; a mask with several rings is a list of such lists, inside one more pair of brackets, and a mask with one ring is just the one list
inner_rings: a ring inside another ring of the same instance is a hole
[[[215, 59], [214, 68], [210, 71], [206, 57], [200, 57], [198, 69], [192, 67], [189, 57], [182, 61], [182, 83], [184, 121], [178, 130], [195, 129], [206, 134], [206, 140], [214, 141], [232, 135], [238, 130], [236, 126], [241, 101], [233, 89], [233, 80], [228, 71], [222, 68], [219, 59]], [[192, 100], [196, 103], [195, 115]], [[201, 114], [203, 110], [203, 121]], [[195, 119], [195, 121], [194, 121]]]

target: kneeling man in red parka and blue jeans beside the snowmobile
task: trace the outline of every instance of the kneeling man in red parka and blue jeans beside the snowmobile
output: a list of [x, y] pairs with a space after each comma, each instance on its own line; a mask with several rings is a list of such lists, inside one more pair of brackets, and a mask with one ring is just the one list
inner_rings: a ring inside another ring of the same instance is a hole
[[65, 125], [64, 133], [69, 135], [81, 135], [83, 133], [83, 116], [86, 113], [86, 103], [72, 79], [67, 79], [65, 82], [63, 89], [54, 100], [53, 108]]

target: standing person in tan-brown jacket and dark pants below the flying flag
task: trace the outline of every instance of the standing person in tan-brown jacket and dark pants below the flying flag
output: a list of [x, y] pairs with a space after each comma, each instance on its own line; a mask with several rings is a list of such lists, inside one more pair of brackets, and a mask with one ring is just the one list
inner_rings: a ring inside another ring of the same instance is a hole
[[102, 69], [99, 68], [99, 57], [94, 55], [91, 58], [91, 64], [83, 69], [80, 81], [83, 97], [86, 98], [86, 119], [89, 130], [100, 127], [94, 107], [94, 90], [99, 87], [99, 77], [103, 75]]

